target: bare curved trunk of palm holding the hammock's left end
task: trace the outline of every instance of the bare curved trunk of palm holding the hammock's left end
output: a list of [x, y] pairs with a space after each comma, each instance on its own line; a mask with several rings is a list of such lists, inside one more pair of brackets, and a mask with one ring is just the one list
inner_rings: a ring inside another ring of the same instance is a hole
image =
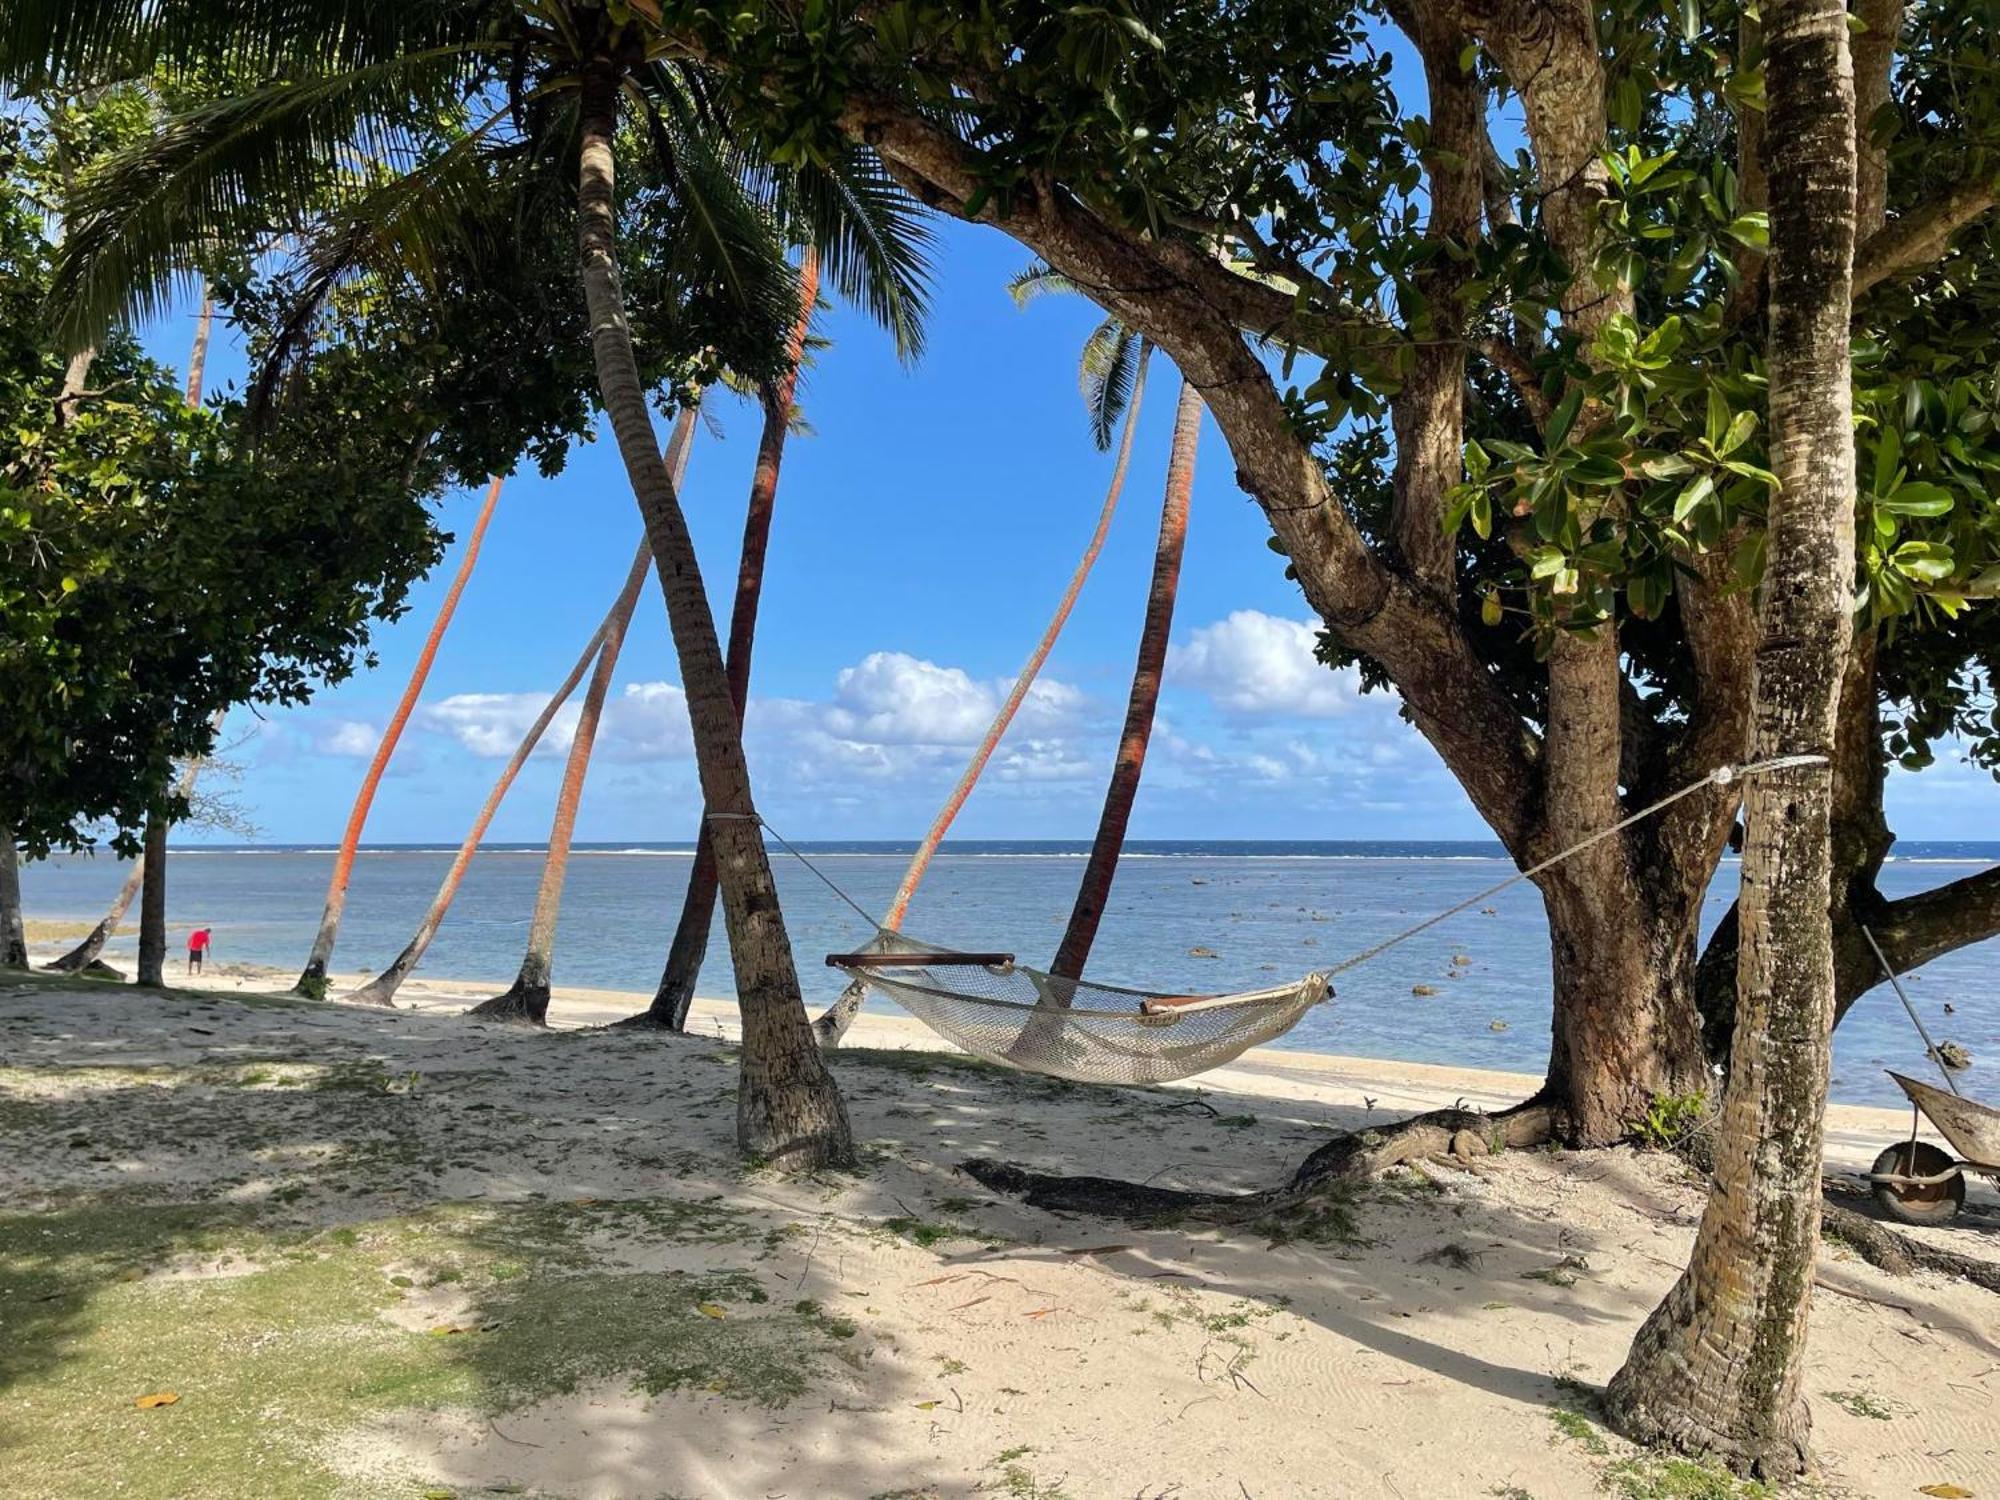
[[594, 58], [584, 68], [578, 126], [578, 260], [590, 342], [598, 366], [598, 394], [618, 438], [618, 452], [632, 482], [646, 538], [652, 544], [668, 626], [680, 658], [694, 762], [710, 818], [716, 870], [722, 882], [722, 918], [736, 962], [736, 1000], [742, 1008], [742, 1078], [736, 1090], [736, 1142], [758, 1158], [788, 1170], [852, 1164], [854, 1136], [840, 1090], [826, 1072], [812, 1024], [800, 1000], [792, 944], [778, 908], [764, 836], [750, 796], [742, 726], [730, 696], [722, 646], [708, 612], [694, 538], [680, 510], [674, 480], [654, 446], [646, 388], [632, 352], [632, 330], [618, 282], [618, 220], [612, 136], [618, 128], [618, 68]]

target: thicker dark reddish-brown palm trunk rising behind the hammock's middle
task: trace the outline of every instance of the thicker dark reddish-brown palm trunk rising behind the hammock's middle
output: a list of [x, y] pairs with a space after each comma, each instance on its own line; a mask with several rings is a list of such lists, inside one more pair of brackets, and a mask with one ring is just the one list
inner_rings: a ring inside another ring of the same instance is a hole
[[[1152, 560], [1152, 592], [1146, 596], [1146, 624], [1138, 638], [1138, 666], [1132, 672], [1132, 696], [1126, 702], [1124, 734], [1118, 740], [1118, 760], [1104, 792], [1104, 816], [1090, 844], [1090, 860], [1076, 890], [1070, 926], [1056, 948], [1050, 974], [1080, 980], [1090, 962], [1104, 904], [1118, 874], [1118, 854], [1124, 850], [1126, 826], [1132, 822], [1132, 802], [1146, 770], [1146, 746], [1152, 740], [1152, 718], [1160, 706], [1160, 680], [1166, 674], [1166, 640], [1174, 628], [1174, 596], [1180, 592], [1180, 554], [1188, 542], [1188, 496], [1194, 490], [1194, 444], [1202, 436], [1202, 396], [1188, 380], [1180, 382], [1180, 404], [1174, 410], [1174, 452], [1166, 466], [1166, 502], [1160, 506], [1160, 546]], [[1068, 1004], [1068, 994], [1052, 990], [1056, 1004]]]

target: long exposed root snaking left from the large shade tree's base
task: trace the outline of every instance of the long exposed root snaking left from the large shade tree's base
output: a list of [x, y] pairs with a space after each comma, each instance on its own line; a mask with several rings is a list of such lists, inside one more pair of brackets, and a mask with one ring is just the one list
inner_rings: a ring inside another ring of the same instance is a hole
[[1022, 1198], [1030, 1208], [1058, 1214], [1096, 1214], [1126, 1220], [1178, 1220], [1200, 1224], [1252, 1224], [1290, 1214], [1324, 1192], [1428, 1156], [1470, 1162], [1496, 1150], [1540, 1146], [1554, 1130], [1546, 1104], [1528, 1100], [1500, 1114], [1480, 1110], [1430, 1110], [1380, 1130], [1336, 1136], [1312, 1152], [1292, 1180], [1258, 1192], [1182, 1192], [1118, 1178], [1028, 1172], [1010, 1162], [974, 1158], [958, 1170], [974, 1182]]

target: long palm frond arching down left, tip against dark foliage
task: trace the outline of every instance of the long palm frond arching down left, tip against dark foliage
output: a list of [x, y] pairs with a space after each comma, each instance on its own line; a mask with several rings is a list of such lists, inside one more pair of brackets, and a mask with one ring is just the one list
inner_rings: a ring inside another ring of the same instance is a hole
[[[76, 346], [120, 314], [158, 314], [202, 248], [300, 232], [344, 180], [422, 166], [406, 122], [454, 110], [480, 60], [464, 48], [266, 84], [168, 120], [78, 182], [50, 302]], [[346, 164], [342, 170], [340, 164]]]

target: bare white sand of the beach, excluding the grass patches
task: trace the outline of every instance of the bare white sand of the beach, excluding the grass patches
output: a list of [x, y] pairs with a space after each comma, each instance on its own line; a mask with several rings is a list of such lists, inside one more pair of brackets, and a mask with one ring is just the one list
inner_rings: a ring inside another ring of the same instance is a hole
[[[1280, 1178], [1330, 1128], [1456, 1098], [1498, 1106], [1538, 1082], [1270, 1050], [1180, 1090], [1048, 1090], [850, 1060], [840, 1080], [870, 1146], [866, 1174], [744, 1178], [732, 1106], [718, 1094], [732, 1076], [714, 1046], [476, 1026], [454, 1014], [468, 998], [468, 986], [446, 982], [406, 986], [398, 1012], [0, 994], [0, 1038], [8, 1062], [30, 1070], [336, 1050], [414, 1070], [426, 1090], [450, 1080], [422, 1130], [472, 1164], [412, 1192], [672, 1190], [718, 1194], [772, 1226], [810, 1226], [754, 1272], [774, 1298], [810, 1296], [852, 1316], [858, 1368], [776, 1412], [708, 1392], [648, 1398], [622, 1382], [496, 1424], [404, 1412], [338, 1442], [356, 1492], [394, 1476], [576, 1498], [1594, 1496], [1630, 1450], [1608, 1440], [1594, 1456], [1564, 1438], [1550, 1410], [1574, 1396], [1556, 1378], [1602, 1384], [1616, 1370], [1684, 1264], [1702, 1206], [1700, 1182], [1668, 1156], [1530, 1152], [1472, 1172], [1394, 1174], [1356, 1204], [1358, 1244], [1268, 1248], [1250, 1234], [1060, 1218], [954, 1172], [966, 1156], [994, 1154], [1042, 1170], [1254, 1186]], [[564, 990], [554, 1020], [586, 1026], [638, 1004]], [[694, 1030], [728, 1036], [732, 1010], [702, 1002]], [[850, 1046], [934, 1040], [914, 1022], [862, 1016]], [[472, 1138], [490, 1116], [466, 1106], [482, 1100], [532, 1116], [532, 1140], [496, 1152]], [[1900, 1112], [1834, 1108], [1830, 1170], [1866, 1166], [1906, 1128]], [[634, 1162], [622, 1142], [672, 1156], [670, 1176]], [[218, 1170], [172, 1142], [102, 1166], [48, 1142], [0, 1160], [0, 1198], [112, 1180], [198, 1188]], [[276, 1178], [284, 1164], [270, 1170]], [[920, 1248], [882, 1232], [896, 1214], [966, 1224], [978, 1238]], [[1980, 1186], [1958, 1226], [1926, 1234], [2000, 1258], [2000, 1200]], [[714, 1260], [714, 1248], [660, 1254]], [[1820, 1284], [1808, 1390], [1822, 1492], [1912, 1496], [1954, 1482], [2000, 1500], [2000, 1300], [1930, 1274], [1892, 1278], [1838, 1246], [1822, 1256]], [[406, 1308], [418, 1322], [452, 1314]], [[1830, 1392], [1880, 1402], [1890, 1418], [1848, 1410]], [[1002, 1458], [1016, 1448], [1030, 1452]]]

